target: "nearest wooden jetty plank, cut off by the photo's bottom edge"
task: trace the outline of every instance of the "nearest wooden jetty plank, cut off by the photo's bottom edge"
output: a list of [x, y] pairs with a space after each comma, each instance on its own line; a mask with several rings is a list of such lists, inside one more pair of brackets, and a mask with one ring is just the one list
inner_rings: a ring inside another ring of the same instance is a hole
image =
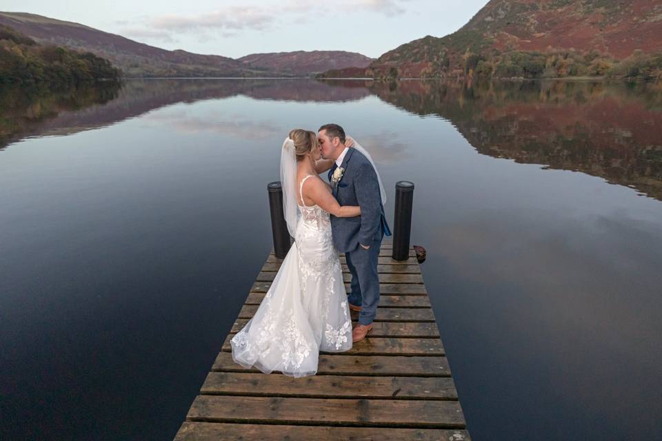
[[463, 429], [401, 429], [394, 427], [292, 426], [185, 421], [174, 441], [334, 440], [334, 441], [471, 441]]

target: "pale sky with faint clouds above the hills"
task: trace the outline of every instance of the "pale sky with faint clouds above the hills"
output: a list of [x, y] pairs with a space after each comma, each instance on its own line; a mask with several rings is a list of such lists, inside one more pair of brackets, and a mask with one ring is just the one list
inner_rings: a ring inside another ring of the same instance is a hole
[[242, 57], [348, 50], [379, 57], [458, 30], [488, 0], [2, 0], [0, 10], [75, 21], [165, 49]]

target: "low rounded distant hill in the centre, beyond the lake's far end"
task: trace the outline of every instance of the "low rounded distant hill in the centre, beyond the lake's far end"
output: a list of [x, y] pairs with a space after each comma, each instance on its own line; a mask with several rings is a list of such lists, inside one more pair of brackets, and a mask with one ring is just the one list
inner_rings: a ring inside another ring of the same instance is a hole
[[314, 50], [312, 52], [272, 52], [250, 54], [237, 59], [248, 68], [269, 68], [277, 72], [305, 75], [330, 69], [367, 68], [374, 59], [357, 52], [342, 50]]

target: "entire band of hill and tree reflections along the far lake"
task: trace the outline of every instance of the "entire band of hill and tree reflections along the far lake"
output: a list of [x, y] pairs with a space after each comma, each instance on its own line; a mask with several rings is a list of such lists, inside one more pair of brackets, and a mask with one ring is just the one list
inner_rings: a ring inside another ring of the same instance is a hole
[[150, 80], [75, 90], [0, 90], [0, 150], [179, 102], [250, 96], [352, 101], [369, 94], [448, 119], [481, 154], [576, 170], [662, 200], [662, 85], [606, 82]]

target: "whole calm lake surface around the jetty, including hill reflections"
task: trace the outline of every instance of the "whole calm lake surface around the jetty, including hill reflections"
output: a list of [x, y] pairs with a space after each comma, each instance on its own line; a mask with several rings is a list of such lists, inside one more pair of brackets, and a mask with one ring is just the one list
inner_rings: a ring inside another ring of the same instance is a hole
[[328, 122], [416, 184], [474, 440], [662, 439], [662, 85], [201, 79], [0, 90], [0, 438], [172, 439]]

